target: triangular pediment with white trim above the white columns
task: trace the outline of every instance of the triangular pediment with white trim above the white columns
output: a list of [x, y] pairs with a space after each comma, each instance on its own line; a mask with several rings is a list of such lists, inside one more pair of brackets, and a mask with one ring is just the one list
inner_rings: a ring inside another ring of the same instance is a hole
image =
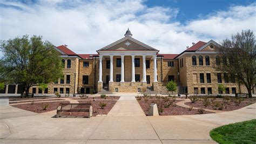
[[116, 42], [107, 45], [103, 47], [102, 49], [98, 51], [134, 51], [134, 50], [140, 50], [140, 51], [158, 51], [154, 49], [153, 47], [146, 45], [142, 42], [139, 42], [138, 40], [131, 38], [129, 36], [126, 36], [122, 39], [117, 40]]

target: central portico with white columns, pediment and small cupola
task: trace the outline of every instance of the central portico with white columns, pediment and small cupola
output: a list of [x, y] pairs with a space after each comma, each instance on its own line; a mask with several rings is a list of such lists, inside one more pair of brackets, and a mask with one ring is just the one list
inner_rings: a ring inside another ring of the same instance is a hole
[[[111, 92], [119, 92], [131, 87], [132, 92], [145, 90], [147, 86], [152, 86], [150, 80], [147, 81], [150, 75], [153, 77], [153, 83], [158, 82], [157, 53], [159, 51], [131, 36], [131, 32], [127, 30], [124, 38], [97, 51], [99, 53], [98, 92], [105, 84], [109, 84]], [[146, 67], [151, 62], [153, 73], [149, 74], [146, 72]]]

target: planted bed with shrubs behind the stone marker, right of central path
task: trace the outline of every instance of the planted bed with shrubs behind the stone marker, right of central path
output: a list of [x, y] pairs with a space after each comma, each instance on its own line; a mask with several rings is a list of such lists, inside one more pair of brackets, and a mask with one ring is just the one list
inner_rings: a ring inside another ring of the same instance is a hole
[[203, 111], [203, 113], [200, 113], [197, 109], [189, 109], [189, 108], [177, 106], [176, 103], [183, 100], [174, 100], [174, 99], [170, 97], [166, 97], [166, 98], [158, 97], [157, 99], [142, 97], [142, 99], [140, 98], [138, 99], [137, 97], [137, 101], [139, 102], [140, 107], [142, 107], [146, 115], [148, 115], [149, 113], [150, 104], [157, 104], [159, 115], [192, 115], [192, 114], [212, 113], [212, 112], [206, 112], [206, 111]]

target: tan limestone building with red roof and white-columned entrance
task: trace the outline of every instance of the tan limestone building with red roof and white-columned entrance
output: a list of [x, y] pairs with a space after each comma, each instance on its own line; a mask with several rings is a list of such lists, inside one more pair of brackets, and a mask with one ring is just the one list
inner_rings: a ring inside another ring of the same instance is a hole
[[[166, 84], [173, 80], [179, 93], [234, 94], [247, 93], [233, 76], [216, 70], [227, 65], [228, 59], [218, 52], [220, 45], [213, 40], [193, 43], [180, 54], [160, 54], [159, 50], [132, 38], [128, 29], [125, 37], [97, 50], [97, 54], [77, 54], [66, 45], [57, 46], [63, 64], [63, 77], [53, 81], [44, 92], [31, 87], [31, 93], [167, 93]], [[218, 91], [218, 84], [226, 86]], [[12, 88], [8, 88], [8, 87]], [[7, 85], [1, 93], [19, 93], [18, 85]]]

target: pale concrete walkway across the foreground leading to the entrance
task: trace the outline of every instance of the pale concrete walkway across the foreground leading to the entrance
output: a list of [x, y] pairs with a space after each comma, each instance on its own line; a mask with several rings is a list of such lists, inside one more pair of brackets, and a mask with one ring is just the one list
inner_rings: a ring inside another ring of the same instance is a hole
[[51, 118], [0, 106], [0, 143], [215, 143], [215, 127], [256, 118], [256, 104], [231, 112], [145, 116], [135, 95], [122, 94], [107, 116]]

